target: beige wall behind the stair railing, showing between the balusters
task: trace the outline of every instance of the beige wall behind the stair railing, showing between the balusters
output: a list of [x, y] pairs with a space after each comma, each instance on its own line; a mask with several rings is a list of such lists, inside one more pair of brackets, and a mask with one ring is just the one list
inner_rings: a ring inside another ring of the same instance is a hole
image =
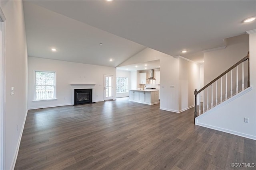
[[[238, 35], [235, 37], [230, 37], [226, 39], [226, 48], [221, 50], [209, 51], [204, 53], [204, 85], [208, 84], [214, 78], [218, 77], [228, 68], [236, 64], [242, 58], [244, 58], [249, 51], [249, 36], [246, 34]], [[248, 78], [248, 61], [244, 64], [244, 86], [247, 87], [247, 78]], [[232, 74], [232, 91], [233, 94], [236, 92], [236, 68], [234, 68]], [[222, 77], [222, 89], [226, 89], [225, 84], [226, 77]], [[231, 96], [231, 73], [227, 74], [227, 91], [228, 98]], [[218, 84], [218, 102], [220, 102], [220, 80]], [[213, 86], [209, 86], [209, 91], [216, 91], [216, 83], [213, 83]], [[238, 91], [242, 90], [242, 64], [238, 66]], [[205, 92], [206, 93], [206, 92]], [[202, 96], [202, 93], [200, 94]], [[216, 104], [216, 92], [209, 93], [209, 97], [205, 94], [205, 98], [213, 98], [213, 105]], [[222, 98], [225, 98], [225, 91], [222, 93]], [[211, 102], [211, 100], [210, 100]]]

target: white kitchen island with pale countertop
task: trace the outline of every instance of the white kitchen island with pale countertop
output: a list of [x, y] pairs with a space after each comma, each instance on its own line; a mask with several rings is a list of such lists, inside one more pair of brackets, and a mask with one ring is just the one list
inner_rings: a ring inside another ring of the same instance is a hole
[[129, 101], [131, 102], [137, 102], [142, 104], [159, 104], [158, 100], [158, 92], [159, 90], [130, 90], [129, 92]]

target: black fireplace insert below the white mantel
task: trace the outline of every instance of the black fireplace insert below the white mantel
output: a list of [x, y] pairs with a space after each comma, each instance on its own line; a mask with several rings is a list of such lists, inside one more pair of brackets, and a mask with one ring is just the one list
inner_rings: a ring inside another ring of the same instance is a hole
[[74, 105], [92, 103], [92, 89], [74, 89]]

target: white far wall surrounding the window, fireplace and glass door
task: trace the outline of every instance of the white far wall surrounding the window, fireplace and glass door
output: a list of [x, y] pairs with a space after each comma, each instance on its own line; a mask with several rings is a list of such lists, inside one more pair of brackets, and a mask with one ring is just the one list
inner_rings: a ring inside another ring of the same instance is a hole
[[[34, 101], [35, 70], [56, 71], [57, 100]], [[28, 57], [28, 109], [70, 105], [70, 84], [96, 84], [92, 100], [103, 101], [104, 74], [114, 76], [113, 95], [116, 99], [116, 68]]]

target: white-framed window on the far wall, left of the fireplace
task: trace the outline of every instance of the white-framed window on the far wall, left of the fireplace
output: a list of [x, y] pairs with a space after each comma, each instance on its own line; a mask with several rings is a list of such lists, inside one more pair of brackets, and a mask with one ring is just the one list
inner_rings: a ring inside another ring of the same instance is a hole
[[35, 100], [55, 99], [55, 72], [36, 71]]

